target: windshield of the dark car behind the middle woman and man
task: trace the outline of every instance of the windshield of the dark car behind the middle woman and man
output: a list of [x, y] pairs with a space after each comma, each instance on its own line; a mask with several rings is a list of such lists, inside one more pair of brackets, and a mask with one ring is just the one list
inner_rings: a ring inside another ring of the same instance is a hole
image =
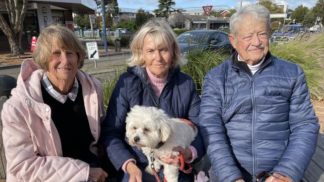
[[184, 32], [176, 39], [179, 43], [207, 43], [210, 34], [203, 32]]

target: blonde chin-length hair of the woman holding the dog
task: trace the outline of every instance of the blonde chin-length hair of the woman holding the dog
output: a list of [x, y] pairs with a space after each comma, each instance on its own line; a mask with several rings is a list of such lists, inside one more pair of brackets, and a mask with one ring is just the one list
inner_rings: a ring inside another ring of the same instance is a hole
[[131, 42], [132, 57], [128, 60], [128, 66], [144, 65], [142, 57], [143, 42], [146, 35], [151, 35], [156, 47], [165, 45], [173, 52], [170, 68], [184, 64], [186, 61], [180, 54], [180, 47], [176, 41], [176, 35], [170, 25], [161, 18], [153, 18], [146, 22], [134, 35]]

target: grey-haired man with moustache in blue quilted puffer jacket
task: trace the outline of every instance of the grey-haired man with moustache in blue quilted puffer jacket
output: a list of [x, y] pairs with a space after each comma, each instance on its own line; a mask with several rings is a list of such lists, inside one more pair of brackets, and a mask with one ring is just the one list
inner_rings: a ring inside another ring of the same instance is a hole
[[220, 182], [300, 182], [319, 132], [300, 66], [269, 52], [269, 11], [231, 17], [237, 52], [204, 80], [200, 131]]

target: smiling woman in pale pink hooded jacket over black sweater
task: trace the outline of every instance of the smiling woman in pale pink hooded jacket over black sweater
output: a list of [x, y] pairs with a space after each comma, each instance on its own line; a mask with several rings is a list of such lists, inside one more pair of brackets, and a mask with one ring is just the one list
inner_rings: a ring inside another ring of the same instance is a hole
[[62, 26], [42, 30], [3, 104], [8, 182], [104, 182], [96, 144], [104, 118], [98, 80], [79, 70], [85, 51]]

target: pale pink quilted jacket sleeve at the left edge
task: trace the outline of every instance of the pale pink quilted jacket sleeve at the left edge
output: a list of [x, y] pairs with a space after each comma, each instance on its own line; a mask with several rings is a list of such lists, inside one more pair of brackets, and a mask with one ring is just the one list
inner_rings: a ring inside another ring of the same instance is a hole
[[7, 160], [7, 181], [80, 182], [87, 181], [89, 165], [80, 160], [34, 153], [31, 132], [24, 116], [5, 102], [2, 135]]

